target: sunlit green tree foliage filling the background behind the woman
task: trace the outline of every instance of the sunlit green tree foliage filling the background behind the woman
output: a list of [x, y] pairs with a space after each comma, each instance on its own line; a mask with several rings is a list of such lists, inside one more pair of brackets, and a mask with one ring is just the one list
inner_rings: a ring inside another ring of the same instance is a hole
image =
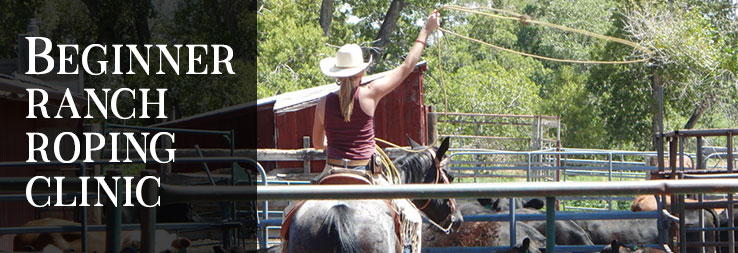
[[[424, 53], [429, 66], [425, 99], [437, 111], [561, 116], [564, 146], [645, 150], [652, 148], [653, 80], [658, 76], [664, 85], [666, 131], [735, 127], [737, 122], [738, 25], [730, 0], [341, 0], [334, 1], [327, 36], [320, 27], [320, 2], [264, 0], [259, 2], [259, 97], [331, 82], [318, 69], [320, 59], [335, 52], [330, 45], [374, 45], [392, 2], [403, 4], [401, 14], [390, 43], [371, 49], [382, 50], [375, 73], [402, 62], [425, 17], [445, 4], [512, 10], [625, 38], [646, 46], [654, 56], [650, 62], [628, 65], [564, 64], [450, 35], [432, 36]], [[624, 60], [646, 54], [579, 34], [458, 11], [445, 11], [442, 27], [550, 57]]]

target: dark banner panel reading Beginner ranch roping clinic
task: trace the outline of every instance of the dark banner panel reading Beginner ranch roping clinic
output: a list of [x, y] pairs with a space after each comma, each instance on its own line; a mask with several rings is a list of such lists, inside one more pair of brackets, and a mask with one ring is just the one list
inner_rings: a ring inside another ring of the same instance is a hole
[[0, 0], [0, 252], [256, 249], [256, 9]]

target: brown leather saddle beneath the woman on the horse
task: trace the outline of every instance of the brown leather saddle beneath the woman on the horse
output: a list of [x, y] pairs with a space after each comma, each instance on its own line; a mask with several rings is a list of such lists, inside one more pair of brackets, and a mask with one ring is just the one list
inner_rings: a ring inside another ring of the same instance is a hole
[[[321, 178], [318, 184], [320, 185], [342, 185], [342, 184], [373, 185], [374, 182], [372, 180], [372, 177], [365, 171], [334, 168], [326, 176]], [[397, 239], [399, 242], [402, 242], [402, 237], [400, 236], [400, 227], [401, 227], [400, 216], [398, 215], [396, 208], [394, 208], [390, 200], [385, 199], [384, 203], [387, 204], [387, 207], [392, 212], [392, 219], [394, 220], [394, 224], [395, 224], [395, 236], [397, 236]], [[292, 219], [295, 216], [295, 213], [297, 213], [297, 210], [299, 210], [303, 204], [305, 204], [305, 200], [300, 200], [296, 202], [294, 207], [285, 214], [284, 219], [282, 220], [282, 229], [280, 231], [280, 236], [282, 237], [282, 240], [284, 241], [289, 240], [290, 224], [292, 224]]]

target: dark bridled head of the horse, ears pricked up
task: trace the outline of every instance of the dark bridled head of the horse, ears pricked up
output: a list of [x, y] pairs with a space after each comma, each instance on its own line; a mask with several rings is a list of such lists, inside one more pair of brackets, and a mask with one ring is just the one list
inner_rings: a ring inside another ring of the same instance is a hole
[[[449, 148], [449, 139], [446, 138], [438, 148], [425, 148], [417, 145], [408, 138], [413, 149], [411, 152], [395, 160], [400, 170], [402, 182], [405, 184], [449, 184], [453, 177], [449, 175], [446, 151]], [[415, 199], [413, 204], [428, 218], [443, 228], [456, 229], [461, 225], [463, 218], [456, 210], [454, 199]]]

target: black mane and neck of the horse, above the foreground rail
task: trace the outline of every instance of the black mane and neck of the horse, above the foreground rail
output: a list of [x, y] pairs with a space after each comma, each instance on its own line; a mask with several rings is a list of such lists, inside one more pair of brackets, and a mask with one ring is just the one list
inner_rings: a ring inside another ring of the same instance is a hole
[[[435, 152], [435, 148], [432, 149]], [[404, 184], [422, 183], [429, 168], [433, 166], [433, 156], [430, 152], [410, 152], [395, 159], [394, 164], [400, 170]]]

